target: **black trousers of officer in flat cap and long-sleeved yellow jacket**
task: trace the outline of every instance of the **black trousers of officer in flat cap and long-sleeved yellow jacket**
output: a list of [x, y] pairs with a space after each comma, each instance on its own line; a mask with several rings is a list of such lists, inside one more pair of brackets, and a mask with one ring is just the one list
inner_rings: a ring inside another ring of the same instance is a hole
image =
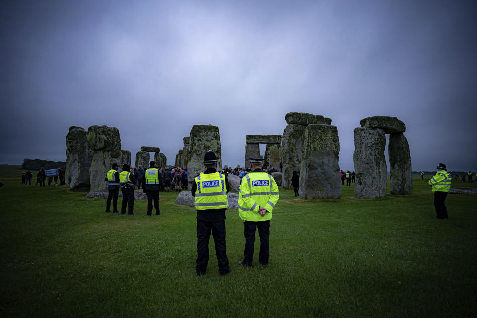
[[268, 254], [270, 252], [270, 220], [267, 221], [245, 221], [245, 251], [243, 252], [243, 263], [247, 266], [252, 266], [253, 252], [255, 249], [255, 232], [258, 228], [258, 235], [260, 236], [260, 252], [258, 254], [258, 261], [262, 265], [268, 264]]

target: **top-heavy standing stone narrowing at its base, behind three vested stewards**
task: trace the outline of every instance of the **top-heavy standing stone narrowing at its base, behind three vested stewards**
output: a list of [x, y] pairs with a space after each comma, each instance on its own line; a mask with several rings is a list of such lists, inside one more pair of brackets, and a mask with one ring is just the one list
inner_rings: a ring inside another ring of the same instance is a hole
[[119, 130], [116, 127], [90, 126], [87, 139], [89, 148], [94, 150], [89, 168], [90, 191], [107, 191], [108, 183], [104, 177], [121, 155]]

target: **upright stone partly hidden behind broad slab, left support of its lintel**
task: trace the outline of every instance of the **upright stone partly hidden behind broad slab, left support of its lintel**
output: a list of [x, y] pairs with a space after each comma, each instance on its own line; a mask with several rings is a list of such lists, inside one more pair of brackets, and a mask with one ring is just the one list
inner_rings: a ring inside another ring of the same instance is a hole
[[303, 125], [288, 125], [283, 131], [280, 158], [283, 162], [282, 187], [285, 189], [293, 189], [293, 171], [300, 173], [305, 128]]

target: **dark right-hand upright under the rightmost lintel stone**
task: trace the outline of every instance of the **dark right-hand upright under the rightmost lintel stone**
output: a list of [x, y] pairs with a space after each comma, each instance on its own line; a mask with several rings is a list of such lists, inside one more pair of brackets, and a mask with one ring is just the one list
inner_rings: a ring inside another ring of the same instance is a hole
[[388, 158], [391, 194], [412, 194], [412, 167], [409, 143], [403, 133], [389, 135]]

